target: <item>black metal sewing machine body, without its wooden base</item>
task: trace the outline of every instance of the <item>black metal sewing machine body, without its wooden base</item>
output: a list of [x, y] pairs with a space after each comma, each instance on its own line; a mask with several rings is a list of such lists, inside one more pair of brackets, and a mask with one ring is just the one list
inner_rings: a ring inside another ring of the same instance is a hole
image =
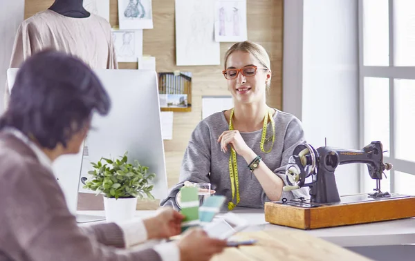
[[[306, 151], [305, 154], [304, 151]], [[290, 174], [287, 173], [289, 186], [284, 187], [284, 190], [308, 186], [310, 188], [309, 202], [313, 203], [313, 206], [341, 203], [335, 182], [335, 169], [342, 164], [361, 163], [367, 164], [370, 177], [376, 180], [376, 189], [374, 189], [376, 192], [366, 194], [368, 198], [365, 200], [369, 200], [370, 197], [373, 199], [389, 198], [391, 194], [380, 191], [380, 180], [385, 175], [384, 171], [391, 169], [392, 166], [389, 163], [383, 163], [382, 153], [381, 142], [371, 142], [362, 150], [346, 150], [328, 146], [315, 149], [309, 144], [299, 144], [293, 151], [291, 165], [287, 167], [287, 170], [295, 167], [297, 176], [293, 182], [293, 179], [288, 176]], [[306, 177], [310, 176], [312, 182], [305, 183]], [[361, 199], [361, 196], [358, 198]]]

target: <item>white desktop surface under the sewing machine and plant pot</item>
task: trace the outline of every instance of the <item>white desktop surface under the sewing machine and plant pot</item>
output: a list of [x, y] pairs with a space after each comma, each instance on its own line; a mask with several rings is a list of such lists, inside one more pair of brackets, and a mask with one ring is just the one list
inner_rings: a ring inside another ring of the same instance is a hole
[[[250, 224], [252, 224], [246, 231], [293, 229], [266, 222], [264, 209], [246, 209], [237, 207], [233, 212], [240, 215], [241, 218], [249, 220]], [[78, 211], [78, 213], [104, 216], [104, 211]], [[154, 215], [154, 213], [155, 211], [137, 211], [136, 216], [138, 218], [145, 218]], [[340, 247], [415, 244], [415, 218], [341, 226], [329, 229], [313, 229], [306, 231], [306, 233], [310, 233], [317, 238], [322, 238], [337, 244]]]

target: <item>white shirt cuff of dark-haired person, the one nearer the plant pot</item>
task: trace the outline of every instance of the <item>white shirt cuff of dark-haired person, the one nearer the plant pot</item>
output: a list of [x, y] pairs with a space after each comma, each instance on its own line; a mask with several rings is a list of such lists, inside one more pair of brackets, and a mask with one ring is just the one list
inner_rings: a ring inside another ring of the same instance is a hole
[[118, 224], [124, 233], [125, 248], [140, 244], [148, 239], [147, 229], [142, 220], [129, 220]]

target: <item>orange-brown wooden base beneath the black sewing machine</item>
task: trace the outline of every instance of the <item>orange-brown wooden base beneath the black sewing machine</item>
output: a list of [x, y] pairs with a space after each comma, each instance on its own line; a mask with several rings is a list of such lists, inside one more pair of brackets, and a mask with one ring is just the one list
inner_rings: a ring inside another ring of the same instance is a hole
[[357, 194], [340, 199], [337, 204], [301, 200], [266, 202], [265, 220], [297, 229], [320, 229], [415, 217], [413, 195], [391, 194], [391, 197], [374, 199], [367, 194]]

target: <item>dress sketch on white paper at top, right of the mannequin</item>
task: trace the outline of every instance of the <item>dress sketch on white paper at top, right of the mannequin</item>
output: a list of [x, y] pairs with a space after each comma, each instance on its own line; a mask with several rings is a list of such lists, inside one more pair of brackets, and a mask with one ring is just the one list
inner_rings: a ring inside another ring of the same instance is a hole
[[121, 30], [152, 29], [151, 0], [118, 0]]

